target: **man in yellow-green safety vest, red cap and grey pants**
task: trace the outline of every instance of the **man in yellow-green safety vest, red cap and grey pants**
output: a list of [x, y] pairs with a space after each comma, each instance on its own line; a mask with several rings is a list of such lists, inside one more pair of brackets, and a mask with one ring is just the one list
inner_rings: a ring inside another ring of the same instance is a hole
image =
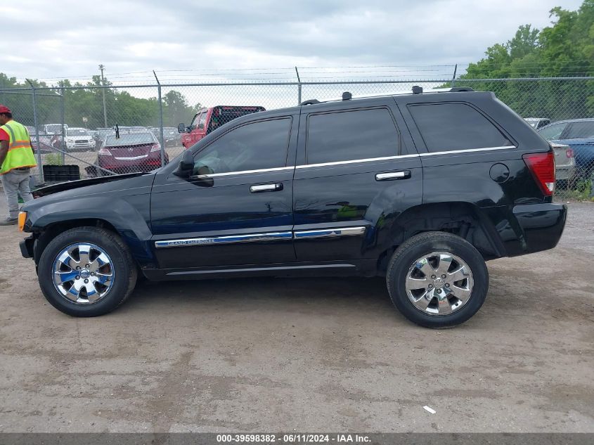
[[0, 178], [8, 202], [8, 217], [0, 226], [17, 224], [18, 193], [25, 202], [33, 199], [29, 178], [36, 165], [29, 132], [13, 120], [8, 107], [0, 104]]

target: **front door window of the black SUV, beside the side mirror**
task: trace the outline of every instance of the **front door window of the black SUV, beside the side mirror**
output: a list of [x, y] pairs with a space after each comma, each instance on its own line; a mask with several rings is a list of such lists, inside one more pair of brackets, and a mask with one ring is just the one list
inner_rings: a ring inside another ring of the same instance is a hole
[[193, 174], [285, 167], [290, 118], [245, 124], [224, 134], [194, 157]]

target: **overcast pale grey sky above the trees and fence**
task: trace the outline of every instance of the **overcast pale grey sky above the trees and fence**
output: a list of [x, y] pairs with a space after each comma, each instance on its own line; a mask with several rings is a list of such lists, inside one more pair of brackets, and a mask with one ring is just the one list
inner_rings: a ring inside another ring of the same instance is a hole
[[[550, 8], [576, 9], [580, 4], [581, 0], [18, 0], [1, 8], [4, 41], [9, 44], [0, 54], [0, 72], [19, 79], [88, 77], [103, 63], [114, 82], [134, 76], [119, 73], [153, 69], [168, 79], [190, 82], [217, 69], [463, 64], [479, 60], [487, 46], [513, 37], [519, 25], [549, 25]], [[401, 75], [396, 68], [377, 72]], [[270, 70], [266, 76], [290, 75]], [[230, 72], [227, 77], [233, 76], [243, 75]]]

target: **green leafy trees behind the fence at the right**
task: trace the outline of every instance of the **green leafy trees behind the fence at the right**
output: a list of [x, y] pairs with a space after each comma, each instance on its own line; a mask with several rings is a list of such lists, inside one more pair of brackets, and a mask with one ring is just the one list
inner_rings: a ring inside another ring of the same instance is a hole
[[523, 117], [560, 120], [594, 115], [594, 82], [464, 82], [465, 79], [593, 76], [594, 0], [584, 0], [578, 11], [553, 8], [550, 17], [551, 26], [541, 31], [522, 25], [507, 43], [490, 46], [484, 58], [468, 66], [458, 85], [494, 91]]

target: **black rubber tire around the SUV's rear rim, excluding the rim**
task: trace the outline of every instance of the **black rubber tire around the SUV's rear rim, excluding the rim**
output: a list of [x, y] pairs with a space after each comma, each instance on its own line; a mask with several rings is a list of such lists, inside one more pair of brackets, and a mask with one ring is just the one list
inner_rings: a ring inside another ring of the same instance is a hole
[[[470, 297], [463, 306], [448, 315], [421, 311], [411, 302], [406, 292], [409, 268], [423, 255], [432, 252], [454, 254], [472, 271], [474, 286]], [[413, 236], [396, 249], [388, 265], [386, 283], [394, 306], [408, 320], [425, 328], [449, 328], [464, 323], [480, 309], [489, 290], [489, 271], [479, 251], [463, 238], [445, 232], [426, 232]]]

